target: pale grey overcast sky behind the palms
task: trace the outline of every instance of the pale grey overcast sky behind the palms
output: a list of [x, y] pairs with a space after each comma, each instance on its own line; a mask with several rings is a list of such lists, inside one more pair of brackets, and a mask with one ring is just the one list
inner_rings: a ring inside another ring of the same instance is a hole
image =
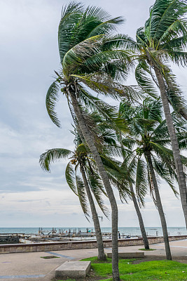
[[[50, 148], [73, 149], [71, 117], [64, 97], [57, 112], [58, 129], [46, 112], [45, 98], [60, 66], [57, 27], [64, 0], [0, 0], [0, 228], [92, 227], [78, 198], [64, 178], [66, 162], [53, 164], [51, 174], [42, 171], [39, 156]], [[148, 18], [152, 0], [95, 0], [113, 17], [123, 15], [120, 31], [134, 37]], [[174, 67], [179, 84], [187, 90], [186, 69]], [[133, 81], [131, 75], [129, 81]], [[181, 203], [167, 185], [160, 193], [168, 226], [184, 226]], [[119, 226], [139, 226], [132, 203], [121, 204]], [[107, 202], [108, 204], [108, 202]], [[101, 212], [99, 212], [101, 216]], [[147, 196], [143, 211], [146, 226], [160, 226], [158, 211]], [[104, 218], [102, 226], [111, 226]]]

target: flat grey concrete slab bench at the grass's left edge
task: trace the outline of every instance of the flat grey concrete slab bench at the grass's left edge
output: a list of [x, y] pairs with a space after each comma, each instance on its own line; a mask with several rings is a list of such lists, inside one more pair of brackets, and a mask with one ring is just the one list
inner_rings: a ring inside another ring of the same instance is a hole
[[85, 277], [91, 267], [91, 261], [66, 261], [55, 270], [55, 277]]

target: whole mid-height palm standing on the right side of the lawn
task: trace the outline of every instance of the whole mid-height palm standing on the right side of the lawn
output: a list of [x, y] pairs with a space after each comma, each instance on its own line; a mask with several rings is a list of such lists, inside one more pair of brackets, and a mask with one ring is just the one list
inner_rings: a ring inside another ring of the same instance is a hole
[[[136, 108], [132, 108], [128, 104], [123, 105], [123, 117], [127, 117], [130, 130], [129, 135], [126, 138], [123, 138], [123, 145], [127, 146], [130, 150], [132, 150], [133, 147], [135, 149], [134, 152], [136, 152], [137, 155], [137, 174], [142, 174], [143, 168], [147, 171], [151, 194], [160, 215], [166, 256], [167, 259], [172, 259], [169, 249], [165, 214], [162, 209], [158, 181], [155, 176], [156, 172], [158, 176], [169, 183], [170, 187], [176, 194], [173, 184], [174, 178], [176, 178], [173, 152], [167, 148], [167, 145], [170, 145], [170, 138], [167, 131], [166, 121], [162, 120], [161, 117], [161, 108], [162, 106], [160, 100], [153, 102], [150, 99], [144, 100], [143, 106], [139, 105], [139, 107]], [[183, 131], [183, 133], [186, 134], [186, 126], [184, 122], [180, 120], [176, 122], [175, 119], [175, 126], [179, 131], [179, 134], [180, 131]], [[179, 139], [182, 140], [183, 136], [179, 137]], [[146, 159], [147, 168], [141, 162], [142, 157]], [[182, 158], [183, 161], [186, 162], [186, 158]], [[134, 161], [135, 160], [132, 155], [132, 162], [130, 162], [130, 166], [134, 165]], [[137, 186], [137, 189], [138, 188], [139, 187]]]

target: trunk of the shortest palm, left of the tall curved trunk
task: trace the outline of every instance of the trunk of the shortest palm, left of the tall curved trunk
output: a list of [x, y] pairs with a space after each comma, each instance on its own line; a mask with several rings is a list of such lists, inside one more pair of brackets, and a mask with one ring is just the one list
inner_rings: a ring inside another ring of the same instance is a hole
[[90, 188], [89, 188], [89, 185], [88, 185], [87, 178], [85, 176], [85, 170], [83, 168], [83, 165], [80, 166], [80, 169], [81, 169], [81, 174], [83, 176], [85, 191], [87, 193], [88, 200], [89, 200], [89, 203], [90, 203], [90, 209], [91, 209], [91, 212], [92, 212], [92, 219], [93, 219], [94, 227], [95, 227], [95, 235], [96, 235], [97, 247], [98, 247], [97, 258], [101, 261], [106, 261], [106, 254], [104, 254], [104, 246], [103, 246], [103, 241], [102, 241], [102, 231], [101, 231], [101, 228], [100, 228], [99, 218], [97, 216], [97, 211], [96, 211], [96, 208], [95, 208], [95, 203], [94, 203], [94, 200], [92, 198], [92, 194], [90, 192]]

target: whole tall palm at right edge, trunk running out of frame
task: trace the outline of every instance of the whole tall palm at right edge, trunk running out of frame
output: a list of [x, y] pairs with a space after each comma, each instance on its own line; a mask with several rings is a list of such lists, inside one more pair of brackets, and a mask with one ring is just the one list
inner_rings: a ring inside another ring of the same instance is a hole
[[176, 65], [187, 63], [186, 12], [186, 0], [156, 0], [150, 8], [150, 16], [144, 27], [137, 30], [137, 42], [124, 38], [123, 44], [136, 53], [135, 58], [139, 63], [135, 75], [139, 86], [153, 97], [156, 97], [157, 93], [152, 81], [155, 81], [160, 90], [187, 226], [186, 181], [169, 104], [185, 119], [187, 110], [181, 90], [168, 65], [168, 61]]

